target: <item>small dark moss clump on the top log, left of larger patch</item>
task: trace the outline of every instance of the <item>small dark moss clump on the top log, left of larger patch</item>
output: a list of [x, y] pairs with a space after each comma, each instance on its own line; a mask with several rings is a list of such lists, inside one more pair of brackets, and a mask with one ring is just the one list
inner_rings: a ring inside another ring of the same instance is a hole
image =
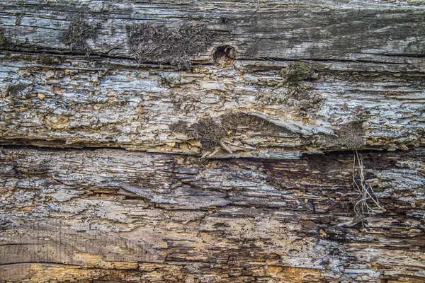
[[69, 45], [69, 50], [77, 50], [90, 54], [91, 48], [86, 40], [96, 39], [100, 23], [88, 23], [84, 21], [81, 15], [72, 18], [68, 30], [62, 35], [61, 40]]

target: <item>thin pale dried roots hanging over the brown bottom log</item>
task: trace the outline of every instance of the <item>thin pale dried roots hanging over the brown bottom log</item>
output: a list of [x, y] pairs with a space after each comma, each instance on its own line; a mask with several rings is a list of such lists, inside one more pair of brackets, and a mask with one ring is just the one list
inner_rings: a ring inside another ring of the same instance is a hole
[[[353, 151], [353, 153], [353, 187], [358, 191], [356, 204], [354, 204], [354, 212], [363, 219], [365, 214], [368, 214], [368, 216], [376, 214], [378, 209], [382, 209], [382, 207], [379, 204], [378, 197], [375, 197], [373, 187], [365, 180], [361, 156], [359, 156], [356, 150]], [[358, 170], [356, 170], [356, 162], [358, 164]], [[356, 177], [358, 180], [356, 180]], [[373, 204], [370, 204], [370, 201], [373, 202]]]

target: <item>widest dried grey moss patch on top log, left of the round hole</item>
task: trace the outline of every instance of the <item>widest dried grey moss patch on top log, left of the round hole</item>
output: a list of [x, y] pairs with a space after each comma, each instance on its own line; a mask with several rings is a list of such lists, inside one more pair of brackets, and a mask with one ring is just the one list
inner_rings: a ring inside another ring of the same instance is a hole
[[128, 46], [139, 64], [152, 62], [190, 69], [190, 57], [205, 52], [212, 42], [209, 30], [191, 24], [177, 31], [154, 23], [133, 23], [125, 28]]

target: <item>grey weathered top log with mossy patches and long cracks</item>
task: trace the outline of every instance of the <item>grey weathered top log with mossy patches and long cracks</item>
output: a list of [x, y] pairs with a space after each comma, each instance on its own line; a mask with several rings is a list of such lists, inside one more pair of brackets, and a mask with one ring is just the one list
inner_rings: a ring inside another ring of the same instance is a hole
[[[348, 59], [405, 62], [424, 56], [424, 1], [2, 1], [0, 19], [13, 48], [69, 52], [61, 36], [73, 16], [99, 23], [87, 44], [96, 54], [130, 57], [125, 26], [149, 21], [205, 25], [217, 45], [243, 59]], [[75, 50], [74, 50], [75, 51]], [[161, 58], [152, 56], [156, 62]]]

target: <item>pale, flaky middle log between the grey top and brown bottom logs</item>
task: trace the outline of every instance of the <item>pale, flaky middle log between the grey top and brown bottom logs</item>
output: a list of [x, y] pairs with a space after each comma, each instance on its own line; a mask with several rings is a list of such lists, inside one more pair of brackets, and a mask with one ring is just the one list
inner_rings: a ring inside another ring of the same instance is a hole
[[[293, 84], [282, 75], [293, 62], [237, 61], [232, 69], [177, 72], [104, 59], [62, 59], [51, 67], [37, 58], [3, 57], [3, 144], [200, 154], [212, 129], [194, 134], [193, 125], [208, 117], [225, 125], [215, 157], [297, 158], [302, 152], [425, 144], [421, 59], [413, 67], [305, 62], [314, 79]], [[244, 119], [229, 116], [241, 112]]]

